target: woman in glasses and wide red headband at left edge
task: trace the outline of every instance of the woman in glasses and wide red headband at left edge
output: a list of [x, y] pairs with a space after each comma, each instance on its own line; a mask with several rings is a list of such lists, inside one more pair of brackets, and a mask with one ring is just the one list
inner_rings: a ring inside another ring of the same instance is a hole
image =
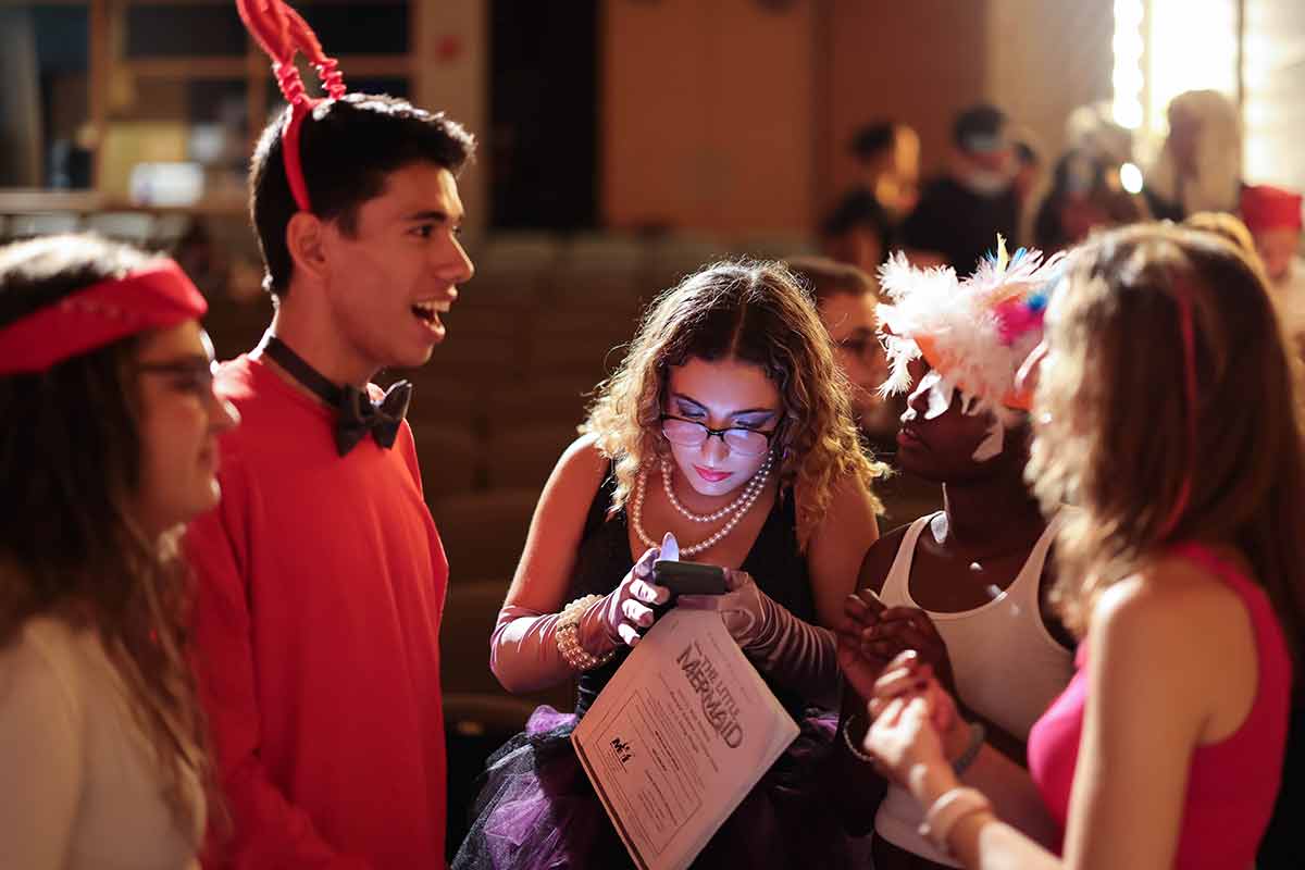
[[205, 301], [89, 236], [0, 248], [0, 866], [192, 867], [183, 524], [218, 501]]

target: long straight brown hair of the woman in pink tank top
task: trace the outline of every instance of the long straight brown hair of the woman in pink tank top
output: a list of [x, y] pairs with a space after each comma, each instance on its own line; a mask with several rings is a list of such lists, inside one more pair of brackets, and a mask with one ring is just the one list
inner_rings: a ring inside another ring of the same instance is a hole
[[[1194, 397], [1184, 386], [1184, 304]], [[1057, 543], [1067, 622], [1084, 630], [1100, 592], [1169, 543], [1219, 541], [1250, 562], [1301, 663], [1300, 364], [1255, 266], [1208, 232], [1105, 233], [1073, 254], [1047, 338], [1028, 475], [1044, 507], [1083, 509]]]

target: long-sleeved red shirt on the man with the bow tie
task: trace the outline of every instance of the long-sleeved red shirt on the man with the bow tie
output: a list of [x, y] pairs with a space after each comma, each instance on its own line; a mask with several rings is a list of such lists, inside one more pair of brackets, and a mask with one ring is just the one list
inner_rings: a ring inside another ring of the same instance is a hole
[[196, 665], [232, 831], [211, 867], [442, 867], [440, 618], [449, 566], [412, 432], [346, 457], [334, 412], [222, 367], [241, 424], [197, 519]]

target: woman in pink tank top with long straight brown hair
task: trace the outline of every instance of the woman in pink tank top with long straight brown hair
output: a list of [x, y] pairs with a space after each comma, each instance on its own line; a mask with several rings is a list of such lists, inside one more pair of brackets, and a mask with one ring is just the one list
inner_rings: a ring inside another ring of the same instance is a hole
[[1079, 672], [1034, 727], [1022, 780], [1062, 841], [1002, 823], [993, 803], [1011, 796], [959, 787], [947, 760], [970, 730], [910, 651], [870, 702], [865, 749], [964, 866], [1253, 866], [1305, 635], [1300, 404], [1279, 335], [1255, 270], [1216, 236], [1138, 226], [1073, 254], [1024, 365], [1035, 490], [1082, 507], [1057, 540]]

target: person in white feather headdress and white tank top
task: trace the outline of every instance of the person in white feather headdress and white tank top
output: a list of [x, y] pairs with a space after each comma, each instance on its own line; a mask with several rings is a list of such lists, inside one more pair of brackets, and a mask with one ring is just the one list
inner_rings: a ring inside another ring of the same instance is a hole
[[[840, 663], [857, 693], [869, 698], [878, 672], [915, 650], [981, 723], [975, 745], [987, 734], [1019, 763], [1034, 720], [1073, 676], [1073, 642], [1048, 600], [1057, 523], [1044, 519], [1024, 483], [1028, 395], [1014, 386], [1041, 340], [1045, 287], [1060, 261], [1036, 250], [1007, 256], [998, 237], [963, 280], [900, 256], [881, 270], [889, 301], [880, 330], [891, 364], [881, 391], [911, 394], [898, 464], [941, 484], [944, 510], [870, 548], [839, 626]], [[853, 746], [865, 721], [853, 716], [844, 727]], [[966, 779], [1000, 790], [1013, 768], [985, 758]], [[874, 820], [876, 867], [955, 866], [919, 833], [923, 817], [904, 789], [890, 788], [877, 813], [864, 806], [877, 797], [873, 785], [859, 792], [856, 811]], [[1028, 830], [1048, 828], [1037, 806], [1009, 811]]]

